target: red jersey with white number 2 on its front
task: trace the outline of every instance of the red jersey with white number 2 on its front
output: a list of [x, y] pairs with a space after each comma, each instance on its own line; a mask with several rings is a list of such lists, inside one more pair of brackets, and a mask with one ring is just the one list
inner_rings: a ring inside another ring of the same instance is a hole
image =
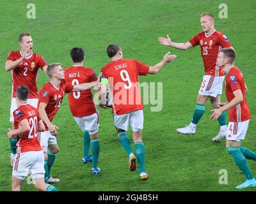
[[[7, 60], [17, 61], [22, 54], [20, 51], [11, 51]], [[37, 55], [34, 52], [29, 57], [24, 59], [15, 69], [12, 69], [12, 98], [16, 97], [16, 91], [19, 85], [26, 85], [29, 88], [28, 98], [38, 98], [36, 80], [38, 69], [46, 66], [44, 57]]]

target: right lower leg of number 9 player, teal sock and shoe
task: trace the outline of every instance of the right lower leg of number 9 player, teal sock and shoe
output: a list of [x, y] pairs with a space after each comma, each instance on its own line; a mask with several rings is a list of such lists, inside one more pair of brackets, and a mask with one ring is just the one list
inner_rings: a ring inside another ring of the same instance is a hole
[[139, 163], [139, 173], [140, 173], [140, 179], [141, 180], [147, 180], [149, 175], [147, 174], [145, 170], [145, 146], [142, 141], [142, 132], [134, 132], [132, 131], [132, 140], [134, 142], [135, 147], [135, 154], [138, 158]]

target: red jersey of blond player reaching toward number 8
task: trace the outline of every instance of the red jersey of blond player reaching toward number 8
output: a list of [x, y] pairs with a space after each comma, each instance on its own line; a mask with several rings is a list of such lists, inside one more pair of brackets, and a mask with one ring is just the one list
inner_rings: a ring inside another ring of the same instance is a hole
[[[65, 92], [70, 92], [73, 89], [73, 85], [66, 84], [64, 80], [61, 81], [60, 87], [56, 87], [52, 82], [47, 82], [40, 89], [38, 107], [40, 103], [46, 103], [45, 112], [48, 116], [48, 119], [52, 121], [56, 113], [58, 112], [62, 99], [65, 95]], [[45, 131], [48, 130], [47, 125], [45, 124]]]

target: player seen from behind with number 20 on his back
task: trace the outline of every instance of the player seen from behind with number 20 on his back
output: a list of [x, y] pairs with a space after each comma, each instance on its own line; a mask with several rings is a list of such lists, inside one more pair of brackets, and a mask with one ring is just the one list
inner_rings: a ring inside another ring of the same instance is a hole
[[38, 111], [28, 105], [29, 89], [24, 85], [17, 88], [18, 108], [13, 112], [14, 129], [8, 132], [8, 138], [17, 137], [17, 155], [12, 171], [12, 191], [20, 191], [28, 171], [31, 171], [33, 183], [40, 191], [58, 191], [44, 182], [44, 152], [37, 139], [38, 131], [44, 131], [44, 123]]

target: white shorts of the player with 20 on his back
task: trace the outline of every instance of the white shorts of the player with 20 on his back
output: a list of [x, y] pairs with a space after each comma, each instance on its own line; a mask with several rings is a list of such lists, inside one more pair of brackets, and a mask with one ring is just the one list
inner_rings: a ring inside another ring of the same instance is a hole
[[42, 150], [16, 154], [12, 175], [24, 178], [28, 176], [29, 170], [32, 177], [35, 177], [35, 174], [43, 175], [42, 178], [44, 177], [44, 152]]

